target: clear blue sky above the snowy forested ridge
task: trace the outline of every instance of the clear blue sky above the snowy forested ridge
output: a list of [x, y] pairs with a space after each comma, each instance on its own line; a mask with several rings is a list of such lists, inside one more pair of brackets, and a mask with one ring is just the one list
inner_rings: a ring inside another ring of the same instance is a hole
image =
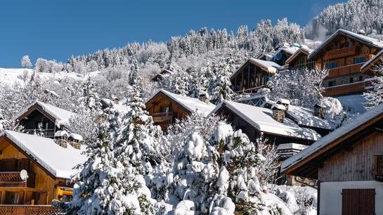
[[20, 67], [24, 55], [66, 61], [131, 41], [167, 41], [190, 29], [252, 29], [261, 19], [287, 17], [306, 25], [342, 0], [267, 1], [0, 1], [0, 67]]

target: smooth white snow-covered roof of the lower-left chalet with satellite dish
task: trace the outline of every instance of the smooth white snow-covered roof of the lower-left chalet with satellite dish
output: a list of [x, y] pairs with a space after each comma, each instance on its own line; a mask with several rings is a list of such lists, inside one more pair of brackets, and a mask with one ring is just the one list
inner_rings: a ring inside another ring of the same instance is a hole
[[77, 173], [73, 167], [86, 160], [82, 150], [72, 148], [70, 144], [63, 148], [51, 138], [17, 131], [5, 131], [4, 136], [57, 178], [70, 178]]

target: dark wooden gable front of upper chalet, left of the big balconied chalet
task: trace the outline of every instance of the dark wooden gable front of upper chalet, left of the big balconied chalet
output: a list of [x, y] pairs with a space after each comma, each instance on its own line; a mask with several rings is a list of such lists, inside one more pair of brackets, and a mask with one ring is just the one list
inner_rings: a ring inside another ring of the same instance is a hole
[[257, 92], [264, 87], [273, 72], [260, 67], [253, 60], [247, 60], [232, 76], [231, 84], [233, 91], [237, 93]]

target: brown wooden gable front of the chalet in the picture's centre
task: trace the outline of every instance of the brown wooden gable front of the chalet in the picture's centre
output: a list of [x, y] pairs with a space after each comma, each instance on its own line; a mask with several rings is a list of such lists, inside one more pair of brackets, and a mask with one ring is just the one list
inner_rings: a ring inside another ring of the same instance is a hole
[[190, 111], [162, 92], [148, 100], [145, 106], [155, 124], [161, 126], [162, 131], [165, 131], [175, 119], [183, 119], [190, 114]]

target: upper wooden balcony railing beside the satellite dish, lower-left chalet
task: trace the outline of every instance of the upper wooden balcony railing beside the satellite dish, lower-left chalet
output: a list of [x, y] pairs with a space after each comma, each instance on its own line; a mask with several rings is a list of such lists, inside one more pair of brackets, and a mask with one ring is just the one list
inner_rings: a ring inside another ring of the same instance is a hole
[[20, 171], [0, 172], [0, 187], [34, 188], [35, 178], [32, 172], [28, 173], [27, 181], [22, 181]]

